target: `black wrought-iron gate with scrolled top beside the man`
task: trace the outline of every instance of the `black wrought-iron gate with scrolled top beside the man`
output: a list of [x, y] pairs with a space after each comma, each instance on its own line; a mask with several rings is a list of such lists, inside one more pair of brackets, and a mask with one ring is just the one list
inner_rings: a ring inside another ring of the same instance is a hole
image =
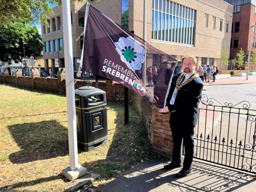
[[194, 158], [256, 173], [256, 110], [202, 94]]

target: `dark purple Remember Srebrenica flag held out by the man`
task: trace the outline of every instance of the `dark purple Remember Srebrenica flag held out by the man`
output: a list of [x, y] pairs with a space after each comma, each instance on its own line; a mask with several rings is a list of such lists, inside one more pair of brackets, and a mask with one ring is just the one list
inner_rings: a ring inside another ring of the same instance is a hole
[[[123, 84], [158, 107], [163, 107], [177, 60], [143, 41], [91, 5], [82, 54], [82, 70]], [[160, 72], [153, 75], [156, 85], [154, 93], [153, 89], [148, 90], [141, 82], [145, 59], [148, 67], [156, 66]]]

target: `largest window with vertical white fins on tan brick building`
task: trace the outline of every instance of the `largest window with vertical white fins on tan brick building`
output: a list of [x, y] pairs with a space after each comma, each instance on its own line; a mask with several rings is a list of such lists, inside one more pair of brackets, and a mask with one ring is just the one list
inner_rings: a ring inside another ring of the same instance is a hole
[[157, 2], [157, 9], [156, 0], [152, 6], [152, 39], [194, 45], [196, 11], [171, 1]]

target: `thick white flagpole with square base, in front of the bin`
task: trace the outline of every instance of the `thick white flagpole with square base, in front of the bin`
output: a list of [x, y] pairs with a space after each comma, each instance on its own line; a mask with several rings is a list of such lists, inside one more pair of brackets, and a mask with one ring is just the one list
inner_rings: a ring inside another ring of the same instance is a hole
[[76, 138], [76, 114], [75, 114], [75, 88], [72, 51], [72, 31], [70, 16], [70, 0], [62, 0], [62, 23], [64, 58], [66, 71], [66, 95], [68, 111], [68, 138], [69, 138], [69, 162], [70, 166], [62, 170], [62, 174], [69, 180], [74, 180], [87, 173], [86, 168], [78, 164], [77, 138]]

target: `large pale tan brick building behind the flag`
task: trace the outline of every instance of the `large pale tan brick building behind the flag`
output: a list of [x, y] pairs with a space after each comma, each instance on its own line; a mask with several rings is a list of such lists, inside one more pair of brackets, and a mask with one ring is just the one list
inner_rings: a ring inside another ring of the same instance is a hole
[[[121, 25], [122, 3], [124, 5], [127, 0], [101, 0], [93, 6]], [[53, 11], [55, 15], [49, 18], [49, 27], [42, 26], [46, 68], [49, 61], [60, 62], [60, 67], [65, 67], [61, 7], [54, 7]], [[143, 0], [128, 0], [126, 11], [129, 31], [143, 38]], [[76, 70], [76, 60], [80, 59], [82, 51], [84, 12], [83, 3], [71, 4], [73, 64]], [[232, 12], [233, 6], [222, 0], [147, 1], [146, 41], [179, 61], [190, 53], [198, 58], [199, 65], [217, 65], [224, 70], [227, 66], [220, 65], [221, 49], [230, 45]], [[161, 62], [161, 57], [148, 54], [147, 65], [154, 61]], [[52, 71], [57, 66], [52, 65]]]

